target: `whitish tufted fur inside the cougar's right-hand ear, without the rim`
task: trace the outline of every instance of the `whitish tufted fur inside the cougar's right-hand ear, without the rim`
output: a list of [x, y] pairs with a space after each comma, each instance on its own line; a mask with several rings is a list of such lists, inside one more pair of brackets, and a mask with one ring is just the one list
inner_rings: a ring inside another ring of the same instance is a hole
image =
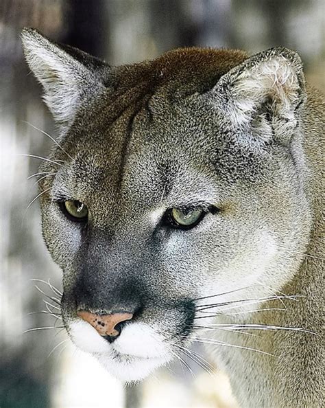
[[264, 140], [273, 137], [274, 132], [288, 134], [296, 128], [300, 82], [285, 56], [269, 57], [242, 71], [230, 84], [230, 93], [235, 126], [251, 126]]

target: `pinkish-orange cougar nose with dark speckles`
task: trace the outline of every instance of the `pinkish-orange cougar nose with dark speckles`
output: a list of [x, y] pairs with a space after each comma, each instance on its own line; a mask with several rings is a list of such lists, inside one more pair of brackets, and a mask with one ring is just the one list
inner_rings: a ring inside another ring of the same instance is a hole
[[80, 310], [77, 313], [79, 317], [91, 324], [97, 330], [99, 335], [112, 343], [121, 334], [121, 323], [132, 319], [132, 313], [115, 313], [113, 315], [95, 315], [86, 310]]

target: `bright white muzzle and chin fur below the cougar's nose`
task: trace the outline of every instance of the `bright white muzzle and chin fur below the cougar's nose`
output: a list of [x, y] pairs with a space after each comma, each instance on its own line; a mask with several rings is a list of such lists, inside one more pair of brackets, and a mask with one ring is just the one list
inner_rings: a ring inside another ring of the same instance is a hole
[[140, 381], [171, 360], [163, 337], [144, 323], [127, 324], [113, 343], [108, 343], [81, 319], [71, 323], [69, 335], [78, 348], [93, 354], [110, 374], [123, 382]]

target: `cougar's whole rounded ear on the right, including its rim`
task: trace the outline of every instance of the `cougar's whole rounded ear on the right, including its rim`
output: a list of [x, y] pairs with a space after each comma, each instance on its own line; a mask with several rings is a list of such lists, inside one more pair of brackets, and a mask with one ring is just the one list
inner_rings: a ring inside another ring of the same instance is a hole
[[290, 49], [268, 49], [222, 76], [213, 93], [225, 126], [287, 145], [306, 98], [302, 62]]

